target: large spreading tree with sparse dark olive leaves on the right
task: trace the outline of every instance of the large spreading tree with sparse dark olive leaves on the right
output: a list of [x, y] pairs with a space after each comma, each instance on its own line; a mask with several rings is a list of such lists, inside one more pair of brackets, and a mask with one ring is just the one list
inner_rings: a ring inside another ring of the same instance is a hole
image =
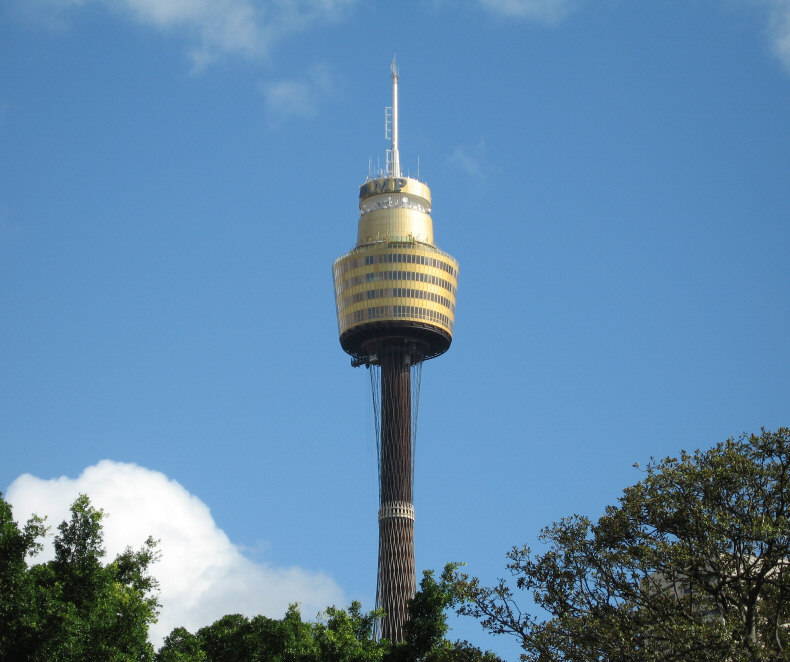
[[513, 548], [515, 590], [456, 573], [460, 612], [518, 637], [523, 660], [790, 659], [789, 452], [781, 428], [651, 460], [597, 522]]

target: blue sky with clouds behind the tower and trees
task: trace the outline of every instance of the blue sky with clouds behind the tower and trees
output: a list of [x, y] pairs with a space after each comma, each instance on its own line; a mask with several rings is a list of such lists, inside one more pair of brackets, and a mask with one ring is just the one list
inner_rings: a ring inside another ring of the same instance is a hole
[[492, 582], [634, 462], [788, 424], [787, 0], [7, 0], [0, 487], [159, 535], [168, 631], [372, 607], [372, 411], [330, 267], [393, 53], [402, 168], [461, 265], [418, 568]]

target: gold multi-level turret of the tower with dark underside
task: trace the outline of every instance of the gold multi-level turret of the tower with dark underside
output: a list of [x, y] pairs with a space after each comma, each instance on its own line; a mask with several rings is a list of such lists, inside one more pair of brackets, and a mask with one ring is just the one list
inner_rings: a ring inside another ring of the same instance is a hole
[[431, 191], [409, 177], [383, 177], [359, 189], [357, 245], [335, 260], [340, 344], [367, 361], [384, 340], [417, 345], [422, 358], [453, 338], [458, 262], [433, 243]]

